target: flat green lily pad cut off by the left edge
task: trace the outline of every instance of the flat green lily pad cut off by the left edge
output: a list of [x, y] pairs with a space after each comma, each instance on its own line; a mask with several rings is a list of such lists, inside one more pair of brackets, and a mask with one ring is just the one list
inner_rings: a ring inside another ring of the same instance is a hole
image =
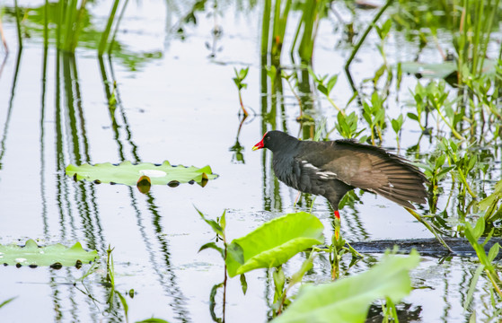
[[60, 243], [39, 247], [34, 240], [27, 240], [26, 245], [1, 245], [0, 264], [14, 266], [80, 266], [98, 258], [98, 251], [85, 251], [80, 242], [71, 248]]

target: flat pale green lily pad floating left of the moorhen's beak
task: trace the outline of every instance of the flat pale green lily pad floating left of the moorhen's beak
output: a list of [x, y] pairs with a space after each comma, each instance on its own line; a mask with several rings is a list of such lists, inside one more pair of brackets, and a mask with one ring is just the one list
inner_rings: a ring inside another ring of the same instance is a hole
[[150, 162], [139, 164], [121, 162], [119, 165], [113, 165], [110, 162], [95, 165], [84, 163], [81, 166], [70, 164], [66, 167], [66, 175], [75, 180], [86, 179], [100, 183], [119, 183], [131, 186], [136, 186], [138, 179], [147, 176], [152, 185], [167, 184], [172, 187], [192, 180], [204, 186], [207, 179], [216, 179], [217, 177], [209, 166], [200, 169], [194, 166], [172, 166], [167, 161], [161, 165]]

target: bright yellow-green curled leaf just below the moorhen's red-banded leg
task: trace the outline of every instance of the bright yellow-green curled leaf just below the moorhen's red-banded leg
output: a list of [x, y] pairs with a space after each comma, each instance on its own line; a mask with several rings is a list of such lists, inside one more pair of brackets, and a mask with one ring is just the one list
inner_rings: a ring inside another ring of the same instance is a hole
[[286, 214], [264, 223], [228, 246], [228, 275], [284, 264], [300, 251], [324, 242], [321, 221], [304, 212]]

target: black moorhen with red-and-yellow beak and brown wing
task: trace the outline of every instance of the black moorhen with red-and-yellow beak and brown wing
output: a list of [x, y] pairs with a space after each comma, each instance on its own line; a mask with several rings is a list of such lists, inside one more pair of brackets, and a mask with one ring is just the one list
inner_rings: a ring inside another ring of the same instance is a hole
[[415, 209], [427, 203], [425, 175], [407, 160], [382, 148], [353, 140], [300, 141], [281, 131], [269, 131], [252, 150], [269, 148], [277, 179], [304, 193], [324, 196], [339, 218], [339, 201], [361, 188]]

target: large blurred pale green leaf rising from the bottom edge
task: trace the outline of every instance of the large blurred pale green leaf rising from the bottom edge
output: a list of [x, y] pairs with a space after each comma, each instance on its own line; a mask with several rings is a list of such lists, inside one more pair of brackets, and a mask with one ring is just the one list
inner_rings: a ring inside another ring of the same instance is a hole
[[296, 301], [273, 323], [365, 322], [369, 306], [388, 297], [401, 301], [411, 291], [410, 269], [418, 265], [418, 253], [410, 257], [386, 257], [370, 270], [330, 284], [307, 285]]

